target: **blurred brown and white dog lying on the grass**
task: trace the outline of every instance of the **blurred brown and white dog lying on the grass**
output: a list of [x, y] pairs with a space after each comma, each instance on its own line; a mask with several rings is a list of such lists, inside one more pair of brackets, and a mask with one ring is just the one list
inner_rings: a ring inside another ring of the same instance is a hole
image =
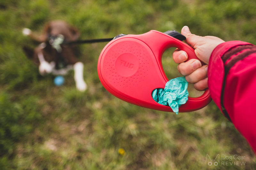
[[23, 47], [28, 58], [39, 66], [41, 75], [52, 73], [53, 75], [65, 75], [68, 70], [74, 69], [76, 88], [85, 91], [84, 64], [76, 58], [74, 45], [64, 45], [63, 41], [76, 41], [79, 38], [77, 28], [68, 25], [64, 21], [52, 21], [44, 26], [43, 34], [37, 36], [28, 28], [22, 30], [24, 35], [31, 37], [41, 44], [34, 50]]

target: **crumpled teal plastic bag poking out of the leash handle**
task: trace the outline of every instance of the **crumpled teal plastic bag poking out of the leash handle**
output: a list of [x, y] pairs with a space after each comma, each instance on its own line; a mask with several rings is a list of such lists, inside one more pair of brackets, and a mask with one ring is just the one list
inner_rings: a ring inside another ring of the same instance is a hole
[[171, 79], [164, 89], [155, 89], [152, 98], [159, 104], [170, 106], [176, 114], [179, 107], [188, 101], [188, 82], [185, 77]]

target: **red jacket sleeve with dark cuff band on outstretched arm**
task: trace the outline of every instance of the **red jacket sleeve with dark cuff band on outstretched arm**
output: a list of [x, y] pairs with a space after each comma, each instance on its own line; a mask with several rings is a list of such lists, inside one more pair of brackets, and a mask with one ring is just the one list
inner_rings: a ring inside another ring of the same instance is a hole
[[256, 153], [256, 47], [228, 41], [212, 52], [208, 86], [213, 101]]

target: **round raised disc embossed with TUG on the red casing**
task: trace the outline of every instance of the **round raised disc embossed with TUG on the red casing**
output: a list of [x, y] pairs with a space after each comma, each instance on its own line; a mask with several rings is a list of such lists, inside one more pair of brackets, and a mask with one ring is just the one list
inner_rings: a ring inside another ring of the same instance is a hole
[[124, 77], [132, 76], [139, 68], [139, 60], [136, 56], [125, 53], [116, 60], [116, 71]]

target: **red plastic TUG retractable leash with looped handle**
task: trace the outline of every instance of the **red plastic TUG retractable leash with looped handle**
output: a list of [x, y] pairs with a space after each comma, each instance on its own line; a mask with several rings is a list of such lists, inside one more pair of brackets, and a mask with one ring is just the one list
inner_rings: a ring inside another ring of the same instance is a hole
[[[175, 38], [174, 38], [175, 37]], [[167, 48], [176, 47], [195, 58], [194, 49], [182, 42], [186, 37], [176, 31], [151, 30], [140, 35], [120, 34], [101, 51], [98, 75], [102, 85], [121, 100], [150, 109], [173, 112], [171, 107], [157, 103], [152, 91], [164, 88], [168, 80], [162, 66]], [[202, 63], [204, 64], [204, 63]], [[209, 89], [200, 97], [188, 97], [179, 112], [199, 110], [211, 101]]]

